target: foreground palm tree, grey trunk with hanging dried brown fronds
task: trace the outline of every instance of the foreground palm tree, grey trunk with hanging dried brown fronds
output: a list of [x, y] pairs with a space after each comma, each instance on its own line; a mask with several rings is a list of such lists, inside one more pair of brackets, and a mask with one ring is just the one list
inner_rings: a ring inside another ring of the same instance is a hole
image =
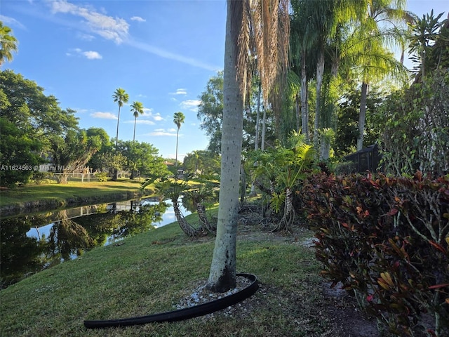
[[[243, 102], [250, 29], [255, 29], [257, 67], [264, 101], [279, 97], [276, 80], [286, 77], [289, 29], [288, 0], [227, 1], [220, 197], [217, 236], [208, 288], [223, 292], [236, 285], [236, 233], [243, 133]], [[277, 94], [277, 95], [276, 95]]]

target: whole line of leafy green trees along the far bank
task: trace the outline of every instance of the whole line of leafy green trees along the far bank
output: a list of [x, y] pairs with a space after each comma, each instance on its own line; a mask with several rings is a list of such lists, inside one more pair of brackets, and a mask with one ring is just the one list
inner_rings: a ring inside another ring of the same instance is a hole
[[[141, 110], [141, 103], [131, 105], [134, 114]], [[39, 171], [47, 163], [58, 168], [58, 183], [84, 168], [112, 178], [119, 170], [130, 178], [170, 173], [153, 145], [117, 139], [114, 145], [102, 128], [79, 128], [74, 110], [63, 110], [53, 95], [11, 70], [0, 72], [0, 111], [1, 186], [48, 178]]]

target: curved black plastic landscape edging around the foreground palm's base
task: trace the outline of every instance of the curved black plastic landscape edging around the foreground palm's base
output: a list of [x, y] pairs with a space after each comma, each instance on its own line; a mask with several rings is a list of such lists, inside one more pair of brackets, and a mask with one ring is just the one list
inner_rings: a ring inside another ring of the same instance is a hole
[[130, 317], [122, 319], [99, 320], [99, 321], [84, 321], [84, 326], [86, 326], [86, 328], [88, 329], [98, 329], [98, 328], [107, 328], [111, 326], [130, 326], [153, 322], [175, 322], [193, 317], [208, 315], [212, 312], [225, 309], [229, 307], [229, 305], [234, 305], [236, 303], [241, 302], [242, 300], [253, 295], [253, 293], [255, 293], [257, 289], [259, 289], [259, 285], [257, 284], [257, 277], [255, 275], [239, 273], [236, 274], [236, 276], [246, 277], [251, 281], [251, 284], [246, 288], [243, 288], [240, 291], [237, 291], [236, 293], [233, 293], [229, 296], [218, 298], [217, 300], [212, 300], [208, 303], [195, 305], [193, 307], [169, 312], [161, 312], [159, 314], [141, 317]]

